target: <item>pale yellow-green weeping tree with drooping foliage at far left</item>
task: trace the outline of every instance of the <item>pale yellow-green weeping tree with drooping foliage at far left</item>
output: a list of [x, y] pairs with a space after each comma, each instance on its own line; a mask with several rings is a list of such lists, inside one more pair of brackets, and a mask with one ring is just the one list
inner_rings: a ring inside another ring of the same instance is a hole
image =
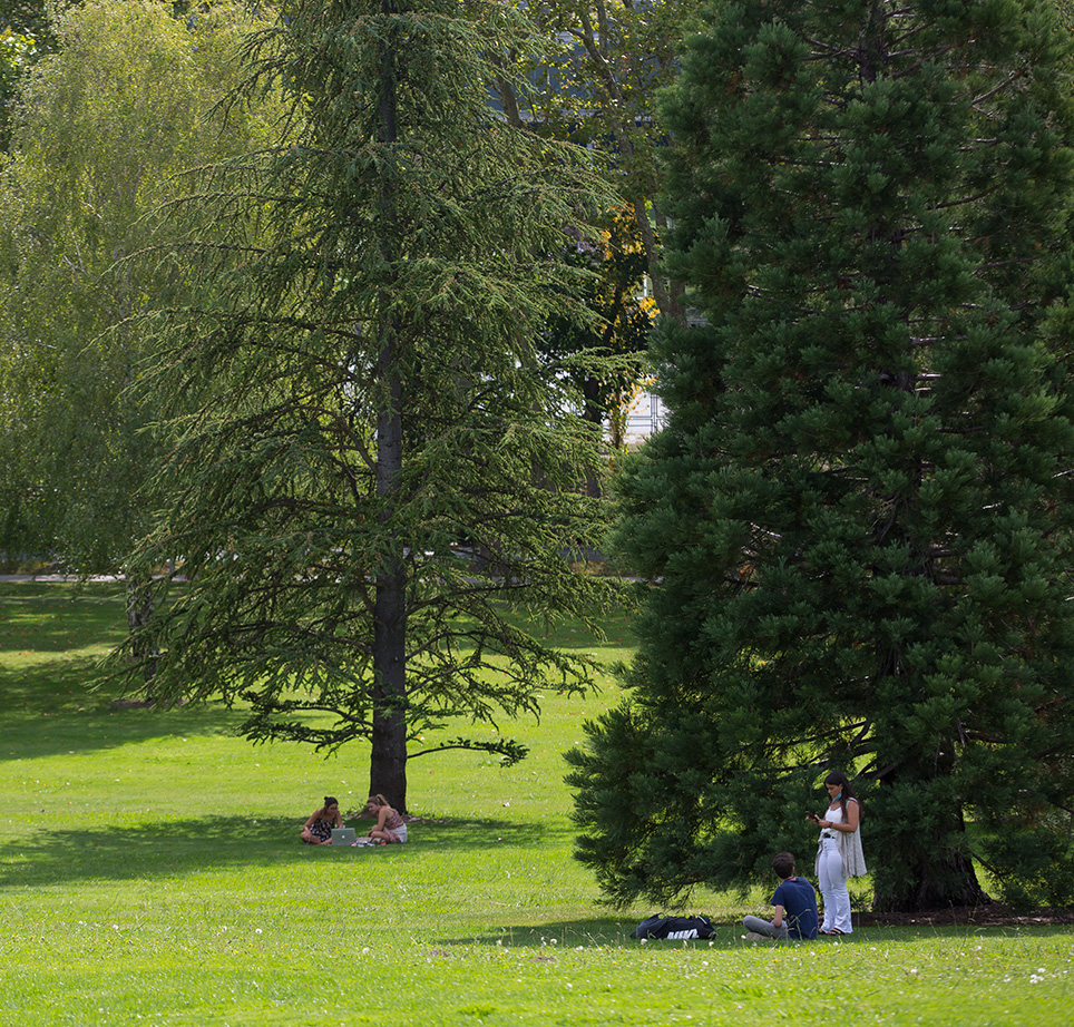
[[[187, 288], [155, 243], [174, 176], [245, 150], [270, 106], [207, 117], [251, 25], [237, 7], [91, 0], [58, 18], [58, 51], [22, 85], [0, 173], [0, 549], [115, 571], [148, 528], [140, 488], [157, 440], [133, 320]], [[114, 327], [115, 326], [115, 327]]]

